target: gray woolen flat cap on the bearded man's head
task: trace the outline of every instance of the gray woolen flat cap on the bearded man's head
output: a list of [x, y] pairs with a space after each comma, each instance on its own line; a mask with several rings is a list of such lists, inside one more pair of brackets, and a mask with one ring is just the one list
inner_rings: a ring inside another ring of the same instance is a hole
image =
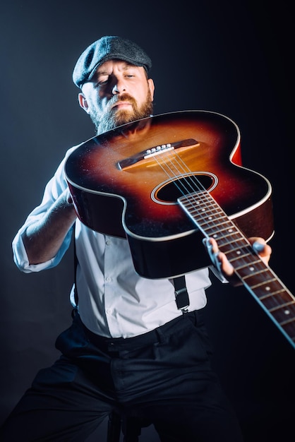
[[143, 66], [147, 72], [152, 67], [150, 57], [136, 43], [116, 35], [107, 35], [90, 44], [80, 55], [73, 70], [73, 82], [80, 88], [91, 80], [98, 66], [112, 59]]

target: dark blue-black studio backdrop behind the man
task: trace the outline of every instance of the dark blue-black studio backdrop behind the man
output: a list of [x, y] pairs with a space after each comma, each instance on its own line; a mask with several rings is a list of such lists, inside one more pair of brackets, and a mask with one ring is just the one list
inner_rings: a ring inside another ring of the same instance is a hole
[[[238, 124], [243, 165], [273, 186], [270, 265], [295, 293], [287, 1], [11, 0], [2, 4], [0, 20], [1, 421], [37, 370], [54, 362], [56, 336], [71, 323], [72, 250], [58, 268], [25, 275], [13, 263], [11, 241], [66, 150], [95, 135], [71, 73], [80, 52], [101, 35], [128, 37], [150, 54], [155, 114], [205, 109]], [[294, 350], [246, 289], [213, 281], [206, 310], [213, 362], [246, 441], [289, 441]], [[102, 434], [92, 440], [104, 440]], [[158, 439], [150, 428], [142, 440]]]

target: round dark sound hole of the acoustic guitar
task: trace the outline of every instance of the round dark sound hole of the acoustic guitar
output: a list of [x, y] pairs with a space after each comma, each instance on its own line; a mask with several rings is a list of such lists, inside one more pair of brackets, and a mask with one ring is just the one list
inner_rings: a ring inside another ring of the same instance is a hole
[[210, 175], [188, 175], [164, 184], [157, 191], [157, 199], [166, 203], [175, 203], [177, 198], [188, 193], [208, 190], [213, 184]]

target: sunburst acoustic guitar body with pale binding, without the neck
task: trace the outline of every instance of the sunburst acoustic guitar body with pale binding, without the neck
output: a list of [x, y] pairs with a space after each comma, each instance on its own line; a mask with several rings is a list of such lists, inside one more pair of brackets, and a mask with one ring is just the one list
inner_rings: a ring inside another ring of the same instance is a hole
[[81, 222], [127, 238], [144, 277], [210, 264], [177, 201], [183, 192], [206, 189], [247, 237], [273, 234], [270, 183], [241, 166], [239, 128], [222, 114], [172, 112], [119, 126], [74, 150], [65, 172]]

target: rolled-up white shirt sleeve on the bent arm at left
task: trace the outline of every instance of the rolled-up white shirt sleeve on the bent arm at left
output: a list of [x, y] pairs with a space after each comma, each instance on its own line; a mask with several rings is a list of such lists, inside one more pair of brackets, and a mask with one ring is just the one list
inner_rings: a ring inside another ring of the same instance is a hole
[[16, 263], [18, 269], [23, 271], [24, 273], [40, 272], [41, 270], [55, 267], [59, 264], [61, 258], [64, 256], [64, 253], [66, 253], [66, 250], [71, 243], [73, 227], [66, 234], [63, 244], [61, 244], [61, 247], [54, 258], [46, 261], [45, 263], [30, 264], [28, 261], [27, 252], [25, 251], [25, 246], [23, 244], [23, 233], [26, 229], [28, 229], [28, 226], [32, 225], [37, 220], [40, 220], [44, 216], [44, 214], [47, 212], [47, 210], [49, 210], [56, 199], [59, 198], [61, 193], [63, 193], [63, 191], [67, 188], [68, 184], [66, 182], [66, 177], [64, 173], [64, 165], [66, 163], [68, 155], [70, 155], [70, 153], [76, 147], [68, 150], [64, 157], [64, 160], [61, 161], [58, 169], [56, 169], [54, 176], [45, 186], [42, 202], [28, 215], [25, 223], [22, 227], [20, 227], [16, 234], [16, 237], [14, 237], [13, 239], [13, 261]]

